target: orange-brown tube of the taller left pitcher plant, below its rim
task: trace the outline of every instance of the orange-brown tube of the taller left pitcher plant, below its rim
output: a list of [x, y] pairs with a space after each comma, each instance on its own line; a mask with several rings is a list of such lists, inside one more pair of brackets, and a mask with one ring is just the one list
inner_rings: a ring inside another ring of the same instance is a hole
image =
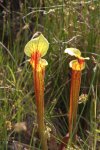
[[33, 70], [34, 89], [37, 106], [38, 131], [41, 139], [42, 150], [47, 150], [47, 137], [44, 124], [44, 68], [40, 71]]

